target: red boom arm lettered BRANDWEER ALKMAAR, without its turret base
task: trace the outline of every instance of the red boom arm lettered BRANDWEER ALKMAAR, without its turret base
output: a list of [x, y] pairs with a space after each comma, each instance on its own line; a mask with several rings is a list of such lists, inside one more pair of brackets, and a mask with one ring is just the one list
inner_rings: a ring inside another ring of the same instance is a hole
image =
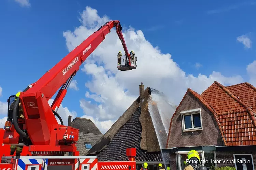
[[50, 99], [56, 91], [71, 77], [73, 73], [79, 70], [79, 66], [86, 58], [100, 45], [110, 30], [116, 27], [116, 32], [121, 40], [125, 54], [129, 56], [119, 21], [106, 22], [101, 28], [90, 35], [79, 46], [71, 51], [51, 70], [47, 71], [37, 82], [33, 88], [27, 90], [27, 93], [35, 93], [42, 91], [46, 99]]

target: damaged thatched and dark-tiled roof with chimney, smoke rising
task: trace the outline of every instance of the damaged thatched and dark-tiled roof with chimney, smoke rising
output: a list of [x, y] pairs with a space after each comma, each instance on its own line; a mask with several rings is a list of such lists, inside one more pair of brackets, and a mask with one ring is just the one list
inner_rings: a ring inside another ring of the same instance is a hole
[[[156, 129], [148, 111], [151, 91], [151, 88], [146, 88], [141, 106], [139, 97], [89, 150], [88, 155], [97, 155], [100, 161], [125, 161], [128, 159], [126, 148], [133, 147], [136, 148], [137, 161], [162, 161]], [[158, 129], [165, 131], [161, 124]], [[159, 135], [166, 144], [167, 133]]]

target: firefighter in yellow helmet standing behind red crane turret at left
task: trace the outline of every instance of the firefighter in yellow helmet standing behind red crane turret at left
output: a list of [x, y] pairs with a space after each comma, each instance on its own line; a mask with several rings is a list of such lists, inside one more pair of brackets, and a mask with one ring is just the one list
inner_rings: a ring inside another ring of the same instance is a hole
[[[20, 92], [18, 92], [16, 94], [17, 98], [19, 97], [20, 95]], [[14, 105], [15, 103], [17, 102], [17, 98], [15, 98], [14, 102], [10, 105], [10, 109], [13, 110], [14, 109]], [[19, 102], [19, 118], [21, 119], [24, 119], [24, 116], [22, 114], [22, 106], [20, 105], [21, 103]], [[15, 118], [13, 118], [15, 119]], [[22, 139], [19, 139], [19, 143], [21, 143], [21, 140]], [[20, 156], [20, 154], [22, 153], [22, 149], [23, 149], [23, 146], [18, 146], [18, 145], [11, 145], [10, 146], [10, 150], [11, 150], [11, 153], [10, 155], [13, 155], [15, 150], [16, 150], [16, 156]]]

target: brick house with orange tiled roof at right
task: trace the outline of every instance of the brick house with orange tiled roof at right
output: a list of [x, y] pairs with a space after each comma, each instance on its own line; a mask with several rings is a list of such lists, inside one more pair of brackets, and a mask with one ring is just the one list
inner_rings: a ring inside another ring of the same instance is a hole
[[198, 151], [206, 167], [256, 168], [256, 88], [215, 81], [201, 95], [187, 89], [170, 122], [171, 170], [183, 170], [187, 153]]

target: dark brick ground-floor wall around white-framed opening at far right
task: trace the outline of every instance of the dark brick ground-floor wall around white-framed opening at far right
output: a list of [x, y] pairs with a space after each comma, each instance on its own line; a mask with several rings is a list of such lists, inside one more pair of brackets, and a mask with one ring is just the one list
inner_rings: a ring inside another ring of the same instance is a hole
[[226, 160], [234, 160], [234, 154], [252, 154], [253, 155], [253, 164], [254, 164], [254, 168], [256, 168], [256, 151], [216, 151], [216, 160], [221, 160], [220, 164], [217, 164], [218, 167], [225, 167], [225, 166], [229, 166], [229, 167], [235, 167], [235, 164], [224, 164], [223, 163], [223, 159]]

